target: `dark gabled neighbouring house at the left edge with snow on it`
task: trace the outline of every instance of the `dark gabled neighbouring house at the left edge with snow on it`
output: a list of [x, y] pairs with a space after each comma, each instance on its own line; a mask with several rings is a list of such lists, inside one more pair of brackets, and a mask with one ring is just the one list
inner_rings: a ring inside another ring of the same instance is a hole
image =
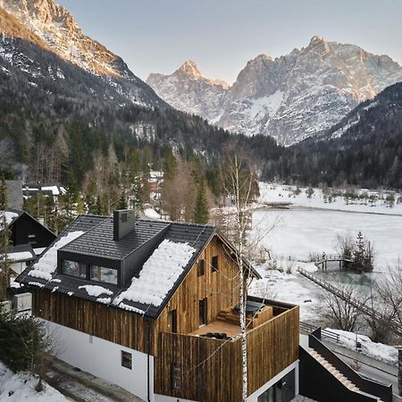
[[7, 257], [12, 260], [11, 269], [20, 274], [37, 255], [41, 254], [56, 238], [55, 234], [33, 216], [20, 209], [0, 211], [10, 230], [10, 249]]

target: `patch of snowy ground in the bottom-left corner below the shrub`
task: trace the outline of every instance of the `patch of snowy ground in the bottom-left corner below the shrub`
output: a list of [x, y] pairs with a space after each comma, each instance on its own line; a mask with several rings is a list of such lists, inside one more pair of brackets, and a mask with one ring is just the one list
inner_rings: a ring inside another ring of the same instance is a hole
[[45, 390], [37, 392], [37, 380], [28, 373], [14, 374], [0, 362], [0, 401], [7, 402], [67, 402], [59, 391], [45, 383]]

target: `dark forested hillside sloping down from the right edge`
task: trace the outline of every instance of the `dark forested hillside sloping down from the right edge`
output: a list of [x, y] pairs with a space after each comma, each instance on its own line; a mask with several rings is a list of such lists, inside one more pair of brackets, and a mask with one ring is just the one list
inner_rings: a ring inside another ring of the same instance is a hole
[[358, 105], [319, 140], [285, 148], [264, 180], [402, 188], [402, 83]]

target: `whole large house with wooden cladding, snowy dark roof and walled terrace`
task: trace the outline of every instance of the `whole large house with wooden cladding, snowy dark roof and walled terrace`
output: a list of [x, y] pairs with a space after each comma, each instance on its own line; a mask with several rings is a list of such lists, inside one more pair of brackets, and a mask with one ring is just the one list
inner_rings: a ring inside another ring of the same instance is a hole
[[[236, 261], [214, 227], [116, 211], [77, 217], [16, 281], [67, 363], [147, 401], [239, 402]], [[287, 402], [298, 306], [249, 297], [247, 311], [247, 400]]]

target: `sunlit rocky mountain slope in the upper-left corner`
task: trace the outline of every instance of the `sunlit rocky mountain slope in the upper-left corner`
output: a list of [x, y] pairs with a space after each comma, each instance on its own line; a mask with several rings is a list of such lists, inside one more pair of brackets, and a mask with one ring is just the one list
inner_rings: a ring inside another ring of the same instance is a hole
[[[71, 13], [55, 4], [54, 0], [0, 0], [0, 7], [43, 41], [43, 47], [104, 80], [130, 102], [146, 106], [164, 105], [155, 92], [130, 71], [121, 57], [84, 35]], [[0, 27], [0, 31], [4, 32], [3, 28]], [[63, 77], [62, 71], [54, 71], [54, 74]]]

